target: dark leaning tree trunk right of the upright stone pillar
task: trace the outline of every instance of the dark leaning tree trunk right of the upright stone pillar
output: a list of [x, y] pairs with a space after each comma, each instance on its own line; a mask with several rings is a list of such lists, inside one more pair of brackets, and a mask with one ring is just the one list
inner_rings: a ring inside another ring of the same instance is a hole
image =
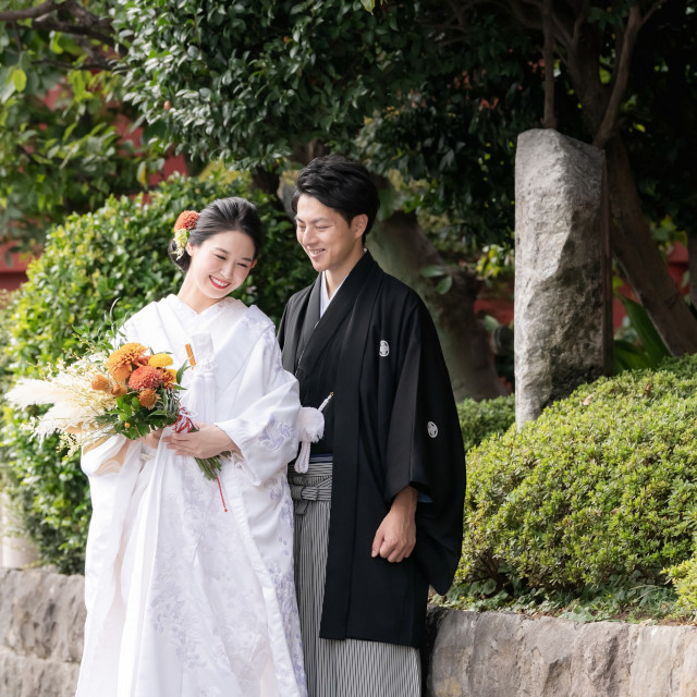
[[612, 250], [626, 279], [675, 356], [697, 352], [697, 319], [671, 278], [641, 211], [622, 137], [606, 147], [612, 225]]

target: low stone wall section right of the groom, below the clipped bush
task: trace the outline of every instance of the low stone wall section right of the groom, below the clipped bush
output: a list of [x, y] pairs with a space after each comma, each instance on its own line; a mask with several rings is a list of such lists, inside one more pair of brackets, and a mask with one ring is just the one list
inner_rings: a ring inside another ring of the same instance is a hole
[[696, 697], [697, 627], [436, 610], [428, 697]]

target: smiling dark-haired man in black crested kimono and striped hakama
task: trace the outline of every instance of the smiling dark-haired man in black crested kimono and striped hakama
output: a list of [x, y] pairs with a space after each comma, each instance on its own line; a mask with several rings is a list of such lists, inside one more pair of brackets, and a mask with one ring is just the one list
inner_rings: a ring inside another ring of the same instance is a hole
[[309, 468], [289, 469], [309, 697], [416, 697], [429, 585], [461, 553], [465, 462], [424, 303], [364, 249], [379, 207], [339, 156], [296, 179], [297, 241], [318, 271], [289, 301], [279, 342], [305, 406], [325, 408]]

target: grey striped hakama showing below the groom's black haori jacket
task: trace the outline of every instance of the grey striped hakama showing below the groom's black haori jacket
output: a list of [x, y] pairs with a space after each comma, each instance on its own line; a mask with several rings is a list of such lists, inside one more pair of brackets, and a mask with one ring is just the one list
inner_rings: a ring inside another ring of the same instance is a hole
[[418, 697], [420, 660], [411, 646], [319, 638], [331, 506], [332, 456], [313, 455], [307, 474], [289, 468], [294, 504], [295, 589], [308, 697]]

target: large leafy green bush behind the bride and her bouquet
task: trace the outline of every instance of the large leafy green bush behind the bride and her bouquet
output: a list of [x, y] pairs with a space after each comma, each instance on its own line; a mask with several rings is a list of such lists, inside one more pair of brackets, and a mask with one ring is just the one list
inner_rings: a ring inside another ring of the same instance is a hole
[[[254, 200], [267, 231], [259, 264], [236, 296], [278, 320], [290, 293], [314, 278], [290, 220], [266, 195], [252, 192], [244, 176], [173, 178], [147, 203], [110, 198], [96, 212], [71, 216], [50, 231], [27, 283], [5, 310], [9, 337], [0, 354], [5, 374], [17, 378], [49, 368], [78, 346], [74, 328], [98, 329], [117, 298], [119, 320], [176, 292], [182, 277], [166, 253], [176, 216], [231, 195]], [[77, 458], [58, 450], [57, 438], [42, 444], [32, 439], [25, 419], [24, 413], [4, 406], [3, 486], [22, 505], [41, 559], [65, 572], [80, 571], [90, 515], [86, 477]]]

